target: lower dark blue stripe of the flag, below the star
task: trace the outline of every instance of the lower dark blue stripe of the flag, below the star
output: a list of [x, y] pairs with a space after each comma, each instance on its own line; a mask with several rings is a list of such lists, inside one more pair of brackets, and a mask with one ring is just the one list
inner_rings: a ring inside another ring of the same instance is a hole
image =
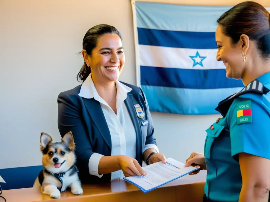
[[178, 69], [149, 66], [141, 66], [141, 85], [191, 89], [244, 86], [240, 79], [228, 79], [225, 69]]

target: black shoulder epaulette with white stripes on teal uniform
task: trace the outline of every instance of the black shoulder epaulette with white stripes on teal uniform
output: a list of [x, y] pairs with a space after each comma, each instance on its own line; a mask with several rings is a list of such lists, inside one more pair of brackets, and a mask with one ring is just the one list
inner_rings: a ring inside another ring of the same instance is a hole
[[234, 101], [234, 99], [239, 97], [240, 95], [243, 95], [245, 93], [255, 93], [255, 94], [263, 95], [263, 94], [268, 93], [269, 91], [270, 89], [266, 88], [264, 85], [262, 85], [261, 82], [255, 79], [254, 81], [251, 81], [247, 86], [245, 86], [239, 92], [227, 97], [226, 99], [218, 103], [218, 106], [215, 110], [220, 112], [222, 116], [225, 116], [232, 102]]

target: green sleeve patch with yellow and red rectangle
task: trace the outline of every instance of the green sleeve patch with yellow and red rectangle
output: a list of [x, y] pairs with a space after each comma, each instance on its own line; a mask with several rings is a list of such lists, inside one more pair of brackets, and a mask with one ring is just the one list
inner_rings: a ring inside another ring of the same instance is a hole
[[251, 100], [239, 102], [236, 107], [237, 124], [251, 123]]

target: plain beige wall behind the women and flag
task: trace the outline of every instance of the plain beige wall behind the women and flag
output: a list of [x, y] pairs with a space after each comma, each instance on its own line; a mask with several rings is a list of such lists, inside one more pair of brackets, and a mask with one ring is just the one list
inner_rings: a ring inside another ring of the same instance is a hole
[[[235, 5], [241, 1], [165, 2]], [[269, 0], [257, 2], [270, 6]], [[80, 84], [76, 75], [83, 58], [77, 53], [86, 31], [100, 23], [113, 25], [122, 33], [126, 64], [120, 80], [135, 84], [129, 0], [0, 0], [0, 169], [41, 165], [41, 132], [60, 141], [57, 96]], [[152, 116], [160, 152], [183, 162], [191, 152], [203, 152], [205, 129], [218, 118]]]

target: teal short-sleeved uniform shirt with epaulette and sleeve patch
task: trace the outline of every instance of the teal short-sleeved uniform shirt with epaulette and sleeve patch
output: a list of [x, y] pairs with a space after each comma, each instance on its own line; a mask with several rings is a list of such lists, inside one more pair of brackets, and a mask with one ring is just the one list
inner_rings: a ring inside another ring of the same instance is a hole
[[213, 201], [238, 201], [242, 177], [238, 154], [270, 159], [270, 73], [249, 83], [216, 108], [223, 116], [207, 130], [205, 194]]

